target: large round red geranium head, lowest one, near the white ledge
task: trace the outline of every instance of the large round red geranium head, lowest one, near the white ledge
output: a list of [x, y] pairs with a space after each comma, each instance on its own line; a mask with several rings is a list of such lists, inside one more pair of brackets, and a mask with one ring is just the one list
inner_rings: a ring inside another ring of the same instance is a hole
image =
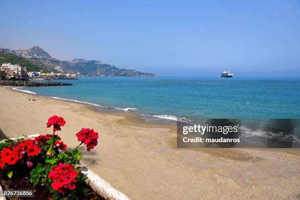
[[77, 172], [70, 164], [58, 163], [58, 165], [51, 168], [48, 177], [53, 180], [51, 187], [53, 190], [62, 193], [67, 190], [74, 190], [76, 188], [75, 180]]

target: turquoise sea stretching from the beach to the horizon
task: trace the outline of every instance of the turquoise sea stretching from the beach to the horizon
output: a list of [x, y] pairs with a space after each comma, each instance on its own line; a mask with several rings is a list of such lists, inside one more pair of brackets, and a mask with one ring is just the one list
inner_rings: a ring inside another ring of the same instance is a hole
[[[74, 86], [23, 88], [165, 119], [300, 118], [300, 78], [82, 77]], [[102, 106], [102, 107], [101, 107]]]

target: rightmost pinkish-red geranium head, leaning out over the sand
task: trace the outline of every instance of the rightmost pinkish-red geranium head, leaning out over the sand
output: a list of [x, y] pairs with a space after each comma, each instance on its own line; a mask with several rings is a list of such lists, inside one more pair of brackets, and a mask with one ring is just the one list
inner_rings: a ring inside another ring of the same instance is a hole
[[86, 145], [88, 151], [94, 149], [94, 147], [98, 144], [98, 132], [95, 132], [94, 129], [81, 128], [81, 130], [76, 133], [76, 136], [78, 141]]

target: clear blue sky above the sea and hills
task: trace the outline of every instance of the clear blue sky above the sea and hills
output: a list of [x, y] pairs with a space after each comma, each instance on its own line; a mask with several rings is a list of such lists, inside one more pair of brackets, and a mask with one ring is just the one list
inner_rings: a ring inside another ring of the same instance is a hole
[[300, 77], [300, 0], [0, 0], [0, 47], [166, 76]]

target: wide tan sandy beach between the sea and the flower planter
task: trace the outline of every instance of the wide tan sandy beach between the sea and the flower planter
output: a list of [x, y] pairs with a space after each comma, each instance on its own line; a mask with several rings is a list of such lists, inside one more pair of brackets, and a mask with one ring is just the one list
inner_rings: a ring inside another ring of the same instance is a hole
[[[35, 98], [37, 101], [28, 101]], [[299, 200], [299, 150], [177, 149], [176, 126], [150, 124], [130, 113], [100, 113], [93, 106], [0, 88], [0, 136], [58, 134], [70, 148], [75, 133], [94, 128], [99, 144], [81, 148], [82, 163], [133, 200]]]

